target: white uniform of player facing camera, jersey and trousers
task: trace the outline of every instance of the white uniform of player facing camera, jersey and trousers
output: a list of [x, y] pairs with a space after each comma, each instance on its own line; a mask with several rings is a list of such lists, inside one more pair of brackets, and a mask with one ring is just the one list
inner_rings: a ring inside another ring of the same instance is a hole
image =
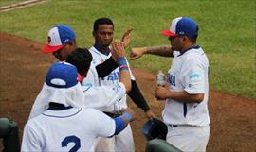
[[[101, 64], [106, 59], [111, 58], [111, 53], [108, 55], [102, 54], [94, 46], [89, 49], [92, 54], [92, 62], [86, 78], [83, 79], [83, 84], [92, 86], [111, 86], [119, 83], [119, 67], [111, 72], [108, 76], [99, 78], [96, 66]], [[128, 61], [127, 61], [128, 63]], [[130, 70], [130, 69], [129, 69]], [[135, 80], [135, 77], [130, 71], [130, 76], [132, 80]], [[121, 97], [121, 99], [115, 104], [104, 107], [98, 110], [110, 113], [117, 113], [121, 109], [127, 108], [126, 103], [126, 94]], [[113, 138], [101, 138], [99, 144], [97, 145], [96, 151], [129, 151], [133, 152], [134, 149], [134, 139], [132, 134], [132, 129], [128, 125], [124, 130], [122, 130], [119, 135], [114, 136]]]

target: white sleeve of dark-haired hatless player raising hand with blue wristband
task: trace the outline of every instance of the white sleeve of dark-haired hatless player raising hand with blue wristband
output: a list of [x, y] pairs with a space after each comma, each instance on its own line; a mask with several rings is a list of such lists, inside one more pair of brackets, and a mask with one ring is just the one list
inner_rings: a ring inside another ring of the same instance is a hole
[[100, 109], [113, 105], [125, 95], [122, 83], [111, 86], [91, 87], [84, 92], [84, 107]]

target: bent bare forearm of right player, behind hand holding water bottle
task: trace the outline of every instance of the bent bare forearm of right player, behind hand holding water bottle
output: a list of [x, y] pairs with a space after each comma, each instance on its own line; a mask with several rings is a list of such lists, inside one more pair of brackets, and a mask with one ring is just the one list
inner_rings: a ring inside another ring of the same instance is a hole
[[176, 101], [186, 103], [200, 103], [204, 99], [204, 93], [190, 94], [186, 91], [174, 92], [170, 91], [167, 93], [166, 98], [171, 98]]

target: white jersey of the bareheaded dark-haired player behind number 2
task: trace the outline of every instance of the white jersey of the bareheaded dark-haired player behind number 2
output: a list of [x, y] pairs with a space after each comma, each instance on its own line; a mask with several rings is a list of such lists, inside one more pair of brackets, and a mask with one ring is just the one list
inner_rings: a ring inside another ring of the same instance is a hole
[[[126, 89], [122, 83], [101, 87], [92, 87], [87, 85], [82, 86], [82, 92], [82, 102], [80, 102], [79, 107], [101, 110], [119, 101], [123, 95], [125, 95]], [[46, 92], [44, 91], [41, 91], [38, 95], [30, 111], [29, 119], [46, 111], [49, 101], [46, 101], [45, 98], [41, 99], [41, 96], [45, 95]]]

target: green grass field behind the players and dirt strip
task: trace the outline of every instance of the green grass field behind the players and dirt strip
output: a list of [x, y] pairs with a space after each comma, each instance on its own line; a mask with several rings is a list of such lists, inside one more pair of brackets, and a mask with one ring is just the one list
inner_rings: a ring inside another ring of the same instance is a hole
[[[74, 28], [80, 46], [90, 47], [94, 20], [106, 16], [115, 23], [115, 38], [134, 28], [130, 47], [136, 47], [169, 44], [159, 32], [172, 18], [190, 16], [199, 24], [198, 44], [210, 59], [210, 89], [256, 99], [255, 14], [253, 0], [49, 0], [0, 13], [0, 30], [46, 42], [47, 31], [64, 23]], [[148, 55], [130, 63], [156, 73], [167, 71], [170, 61]]]

